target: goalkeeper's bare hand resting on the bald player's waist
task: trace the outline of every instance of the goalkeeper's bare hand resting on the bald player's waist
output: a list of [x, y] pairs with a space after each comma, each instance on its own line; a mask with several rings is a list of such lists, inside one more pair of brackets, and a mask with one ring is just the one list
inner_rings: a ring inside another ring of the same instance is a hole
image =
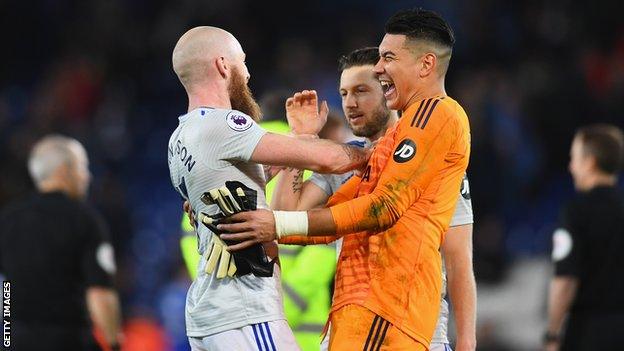
[[217, 229], [228, 234], [221, 234], [223, 240], [240, 241], [228, 246], [229, 251], [238, 251], [257, 243], [266, 243], [277, 239], [275, 217], [269, 210], [241, 212], [224, 218]]

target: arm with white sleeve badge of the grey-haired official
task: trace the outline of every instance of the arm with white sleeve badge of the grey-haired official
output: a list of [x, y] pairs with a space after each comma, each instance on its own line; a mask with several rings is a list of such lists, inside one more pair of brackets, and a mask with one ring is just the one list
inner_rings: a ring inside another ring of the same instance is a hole
[[116, 350], [121, 338], [121, 308], [113, 285], [115, 255], [103, 220], [94, 215], [92, 223], [94, 230], [89, 233], [82, 257], [87, 285], [85, 299], [93, 324]]

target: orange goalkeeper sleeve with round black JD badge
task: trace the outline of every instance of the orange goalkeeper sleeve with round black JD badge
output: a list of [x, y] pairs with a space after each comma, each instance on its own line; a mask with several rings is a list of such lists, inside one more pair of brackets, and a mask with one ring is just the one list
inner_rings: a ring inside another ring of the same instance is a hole
[[459, 119], [449, 106], [435, 109], [434, 104], [432, 112], [424, 123], [416, 123], [410, 114], [401, 118], [392, 154], [375, 188], [330, 208], [337, 234], [389, 228], [418, 201], [444, 167], [460, 133]]

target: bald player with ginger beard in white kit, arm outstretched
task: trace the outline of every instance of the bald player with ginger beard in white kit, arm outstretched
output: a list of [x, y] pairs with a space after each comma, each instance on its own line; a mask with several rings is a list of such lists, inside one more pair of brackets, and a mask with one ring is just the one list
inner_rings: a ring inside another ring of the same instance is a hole
[[[261, 113], [247, 86], [245, 53], [227, 31], [189, 30], [176, 44], [172, 61], [189, 106], [169, 140], [169, 171], [173, 186], [195, 213], [217, 214], [218, 207], [200, 197], [228, 181], [255, 192], [251, 202], [267, 209], [262, 165], [343, 173], [365, 164], [367, 151], [314, 137], [326, 121], [327, 110], [318, 111], [313, 91], [287, 102], [291, 129], [301, 136], [267, 133], [259, 127]], [[283, 312], [279, 267], [271, 266], [270, 276], [237, 270], [233, 276], [218, 277], [216, 270], [206, 267], [207, 256], [220, 239], [203, 225], [196, 226], [196, 232], [202, 259], [186, 302], [192, 349], [298, 350]], [[265, 243], [264, 250], [268, 257], [257, 264], [277, 255], [274, 241]]]

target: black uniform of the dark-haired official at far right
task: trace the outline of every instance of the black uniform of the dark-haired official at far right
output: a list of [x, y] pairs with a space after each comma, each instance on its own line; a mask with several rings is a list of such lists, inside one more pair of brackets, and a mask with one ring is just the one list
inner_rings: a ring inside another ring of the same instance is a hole
[[578, 278], [562, 350], [624, 350], [624, 200], [616, 187], [579, 194], [554, 233], [557, 276]]

